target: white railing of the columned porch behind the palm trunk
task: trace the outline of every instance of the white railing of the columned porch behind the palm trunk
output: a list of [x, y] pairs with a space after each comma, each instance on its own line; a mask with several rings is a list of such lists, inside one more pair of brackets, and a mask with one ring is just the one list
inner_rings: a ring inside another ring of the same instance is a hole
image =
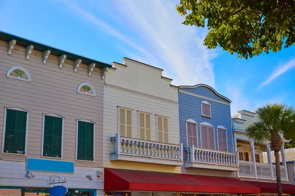
[[[269, 164], [256, 163], [256, 171], [254, 162], [239, 161], [239, 176], [245, 178], [258, 178], [258, 179], [269, 179], [275, 180], [275, 165], [272, 165], [272, 171], [270, 170]], [[281, 179], [287, 181], [285, 166], [281, 166]]]

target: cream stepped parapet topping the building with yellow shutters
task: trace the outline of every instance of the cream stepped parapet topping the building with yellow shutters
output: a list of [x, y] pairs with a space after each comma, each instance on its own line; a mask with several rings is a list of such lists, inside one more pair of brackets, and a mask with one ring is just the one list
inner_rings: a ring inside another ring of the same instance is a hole
[[170, 87], [171, 80], [162, 78], [162, 71], [124, 58], [124, 64], [114, 64], [117, 69], [109, 70], [106, 83], [124, 89], [144, 93], [158, 98], [177, 100], [177, 89]]

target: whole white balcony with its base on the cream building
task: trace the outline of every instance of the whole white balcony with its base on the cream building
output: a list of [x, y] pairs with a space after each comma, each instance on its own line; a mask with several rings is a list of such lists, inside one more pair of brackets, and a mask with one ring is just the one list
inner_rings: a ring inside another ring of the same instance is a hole
[[134, 138], [112, 137], [114, 150], [110, 160], [124, 160], [182, 166], [182, 144], [164, 144]]

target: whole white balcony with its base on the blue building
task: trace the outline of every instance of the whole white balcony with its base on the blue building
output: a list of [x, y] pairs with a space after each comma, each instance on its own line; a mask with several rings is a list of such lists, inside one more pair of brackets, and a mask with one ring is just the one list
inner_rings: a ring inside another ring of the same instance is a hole
[[237, 154], [218, 150], [187, 147], [186, 168], [207, 168], [216, 170], [238, 171]]

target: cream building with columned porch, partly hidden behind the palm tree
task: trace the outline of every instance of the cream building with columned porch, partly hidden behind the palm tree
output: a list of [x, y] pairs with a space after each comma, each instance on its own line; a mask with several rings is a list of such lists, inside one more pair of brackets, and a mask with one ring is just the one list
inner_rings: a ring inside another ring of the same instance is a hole
[[[271, 156], [269, 142], [257, 144], [247, 137], [245, 129], [257, 122], [257, 110], [239, 110], [232, 116], [234, 133], [234, 146], [238, 153], [239, 172], [238, 177], [254, 186], [260, 187], [263, 194], [275, 194], [276, 174], [274, 159]], [[283, 139], [283, 142], [289, 142]], [[282, 147], [284, 152], [284, 146]], [[283, 194], [292, 194], [288, 191], [290, 186], [288, 168], [285, 153], [281, 153], [281, 180]], [[266, 189], [265, 187], [268, 187]]]

